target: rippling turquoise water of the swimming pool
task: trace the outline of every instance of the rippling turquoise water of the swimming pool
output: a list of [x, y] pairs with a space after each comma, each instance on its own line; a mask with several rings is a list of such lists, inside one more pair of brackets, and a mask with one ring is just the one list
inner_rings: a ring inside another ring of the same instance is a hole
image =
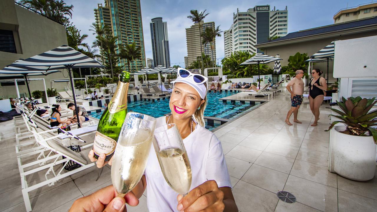
[[[226, 118], [233, 119], [244, 112], [252, 108], [253, 104], [243, 104], [240, 102], [236, 103], [223, 103], [219, 101], [220, 98], [234, 95], [234, 92], [208, 92], [207, 93], [207, 108], [204, 111], [204, 116], [216, 117], [216, 118]], [[152, 117], [158, 118], [164, 114], [170, 113], [169, 109], [169, 99], [159, 100], [159, 101], [134, 101], [127, 104], [128, 111], [138, 112]], [[90, 116], [100, 119], [101, 113], [90, 114]], [[217, 125], [217, 124], [215, 124]], [[212, 130], [218, 126], [206, 126], [207, 129]]]

